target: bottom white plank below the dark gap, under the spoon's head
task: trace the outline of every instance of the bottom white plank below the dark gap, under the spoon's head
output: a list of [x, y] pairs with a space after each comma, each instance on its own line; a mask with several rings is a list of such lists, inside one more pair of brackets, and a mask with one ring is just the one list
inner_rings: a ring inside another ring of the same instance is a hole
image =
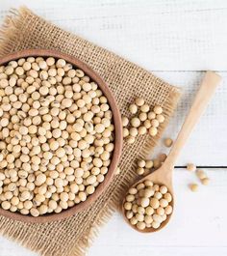
[[[188, 184], [199, 184], [194, 173], [178, 169], [174, 175], [176, 209], [168, 226], [159, 233], [140, 234], [115, 213], [100, 230], [88, 255], [124, 256], [200, 255], [225, 256], [227, 253], [227, 171], [206, 169], [211, 185], [199, 186], [193, 193]], [[1, 256], [36, 255], [14, 242], [0, 238]]]

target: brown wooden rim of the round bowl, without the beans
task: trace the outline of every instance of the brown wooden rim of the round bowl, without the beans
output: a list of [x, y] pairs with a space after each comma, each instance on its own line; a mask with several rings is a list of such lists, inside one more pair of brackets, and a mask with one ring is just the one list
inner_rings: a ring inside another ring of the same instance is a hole
[[112, 156], [112, 162], [109, 166], [109, 171], [105, 175], [105, 180], [103, 183], [98, 185], [93, 194], [88, 196], [88, 199], [85, 202], [81, 202], [78, 205], [75, 205], [71, 208], [63, 210], [62, 213], [47, 213], [44, 215], [40, 215], [38, 217], [34, 217], [32, 215], [23, 215], [21, 213], [12, 213], [10, 211], [3, 210], [0, 207], [0, 214], [6, 217], [10, 217], [15, 220], [20, 220], [24, 222], [34, 222], [34, 223], [43, 223], [43, 222], [50, 222], [55, 220], [60, 220], [69, 216], [74, 215], [75, 213], [81, 212], [87, 209], [101, 194], [105, 191], [105, 189], [111, 184], [114, 178], [114, 171], [117, 167], [119, 162], [119, 158], [121, 155], [122, 150], [122, 125], [121, 125], [121, 116], [119, 109], [117, 107], [116, 101], [114, 100], [114, 95], [107, 86], [107, 84], [103, 81], [103, 79], [95, 72], [92, 71], [87, 64], [83, 63], [82, 61], [78, 60], [77, 58], [66, 55], [60, 51], [56, 50], [49, 50], [49, 49], [26, 49], [19, 52], [14, 52], [7, 56], [0, 58], [0, 66], [4, 65], [10, 61], [17, 60], [19, 58], [26, 58], [29, 56], [34, 57], [55, 57], [55, 58], [62, 58], [68, 63], [71, 63], [73, 66], [85, 71], [88, 76], [98, 84], [99, 88], [102, 90], [103, 94], [109, 101], [111, 109], [114, 115], [114, 152]]

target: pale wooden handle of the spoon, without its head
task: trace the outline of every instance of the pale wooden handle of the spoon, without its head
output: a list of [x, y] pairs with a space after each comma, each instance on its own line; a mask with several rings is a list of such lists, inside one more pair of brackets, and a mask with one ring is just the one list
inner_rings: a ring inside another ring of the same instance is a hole
[[190, 132], [197, 124], [199, 118], [206, 109], [208, 102], [214, 95], [215, 88], [220, 81], [221, 77], [214, 71], [206, 72], [200, 85], [200, 88], [196, 94], [196, 97], [190, 107], [189, 114], [177, 136], [176, 141], [172, 146], [169, 155], [164, 161], [164, 164], [168, 165], [168, 167], [171, 167], [173, 169], [177, 156], [180, 154], [187, 139], [189, 138]]

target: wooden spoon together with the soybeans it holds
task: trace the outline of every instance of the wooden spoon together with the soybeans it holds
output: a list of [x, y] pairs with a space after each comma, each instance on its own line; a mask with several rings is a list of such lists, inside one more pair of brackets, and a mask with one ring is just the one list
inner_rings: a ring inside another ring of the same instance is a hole
[[220, 81], [221, 77], [215, 72], [206, 72], [189, 114], [163, 165], [129, 189], [122, 203], [122, 212], [127, 223], [135, 230], [152, 233], [163, 229], [168, 223], [174, 208], [174, 164]]

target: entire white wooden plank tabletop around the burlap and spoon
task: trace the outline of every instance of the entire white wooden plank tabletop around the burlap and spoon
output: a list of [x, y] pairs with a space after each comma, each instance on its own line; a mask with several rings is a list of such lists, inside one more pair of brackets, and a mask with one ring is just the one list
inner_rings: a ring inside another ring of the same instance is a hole
[[[203, 71], [218, 71], [223, 83], [178, 160], [203, 166], [212, 184], [191, 193], [196, 178], [178, 168], [177, 207], [160, 233], [140, 235], [115, 213], [88, 255], [227, 255], [227, 2], [225, 0], [1, 0], [0, 22], [26, 5], [64, 29], [105, 46], [184, 89], [166, 130], [174, 137]], [[163, 146], [157, 148], [161, 152]], [[37, 255], [0, 238], [1, 256]]]

